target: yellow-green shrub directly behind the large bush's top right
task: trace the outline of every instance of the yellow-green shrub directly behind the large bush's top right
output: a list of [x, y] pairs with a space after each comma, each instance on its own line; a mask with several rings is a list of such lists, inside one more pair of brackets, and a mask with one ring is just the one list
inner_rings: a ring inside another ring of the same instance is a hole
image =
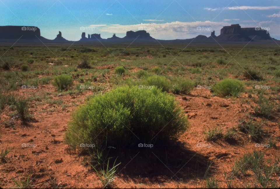
[[167, 91], [167, 92], [170, 90], [170, 87], [171, 87], [171, 83], [167, 78], [165, 78], [163, 76], [157, 76], [157, 75], [148, 77], [144, 81], [144, 83], [146, 85], [157, 86], [157, 88], [160, 88], [160, 89], [162, 89], [162, 91]]

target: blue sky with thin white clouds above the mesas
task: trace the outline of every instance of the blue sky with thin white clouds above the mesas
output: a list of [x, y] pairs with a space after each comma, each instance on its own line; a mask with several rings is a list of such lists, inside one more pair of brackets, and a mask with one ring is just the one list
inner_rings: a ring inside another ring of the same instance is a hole
[[0, 0], [0, 25], [37, 26], [49, 39], [58, 31], [79, 40], [83, 31], [108, 38], [140, 29], [157, 39], [185, 39], [219, 35], [236, 23], [269, 28], [280, 39], [280, 0]]

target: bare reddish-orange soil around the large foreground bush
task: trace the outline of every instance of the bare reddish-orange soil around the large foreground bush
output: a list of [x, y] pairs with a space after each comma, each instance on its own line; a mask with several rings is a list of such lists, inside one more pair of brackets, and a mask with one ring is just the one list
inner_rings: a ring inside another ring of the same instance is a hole
[[[45, 92], [55, 92], [55, 88], [52, 85], [44, 85], [36, 90], [21, 89], [15, 95], [31, 97]], [[76, 108], [73, 103], [82, 104], [85, 97], [91, 93], [87, 91], [78, 96], [69, 94], [53, 96], [53, 99], [62, 100], [63, 104], [68, 105], [64, 109], [62, 104], [48, 105], [43, 99], [41, 104], [36, 106], [33, 104], [30, 107], [33, 120], [23, 123], [13, 119], [14, 126], [4, 123], [11, 120], [8, 116], [9, 108], [6, 107], [2, 111], [0, 145], [3, 148], [8, 144], [8, 147], [12, 149], [6, 158], [7, 162], [0, 163], [1, 187], [15, 187], [13, 178], [26, 179], [31, 175], [32, 185], [36, 188], [54, 187], [53, 179], [56, 179], [56, 184], [62, 188], [102, 188], [96, 173], [90, 166], [83, 163], [87, 156], [71, 152], [63, 141], [67, 123], [71, 119], [70, 114]], [[253, 103], [245, 103], [246, 95], [237, 99], [212, 97], [207, 89], [194, 89], [190, 95], [176, 95], [177, 101], [188, 115], [190, 122], [190, 128], [180, 138], [181, 147], [166, 151], [170, 154], [169, 159], [160, 160], [157, 157], [163, 157], [161, 152], [151, 151], [153, 153], [146, 155], [148, 160], [145, 160], [143, 157], [145, 157], [144, 153], [148, 153], [147, 151], [140, 153], [130, 151], [127, 158], [122, 161], [112, 187], [205, 187], [203, 177], [207, 164], [212, 161], [211, 174], [216, 176], [219, 187], [226, 187], [224, 172], [230, 171], [234, 161], [244, 153], [256, 149], [263, 150], [265, 158], [280, 157], [277, 149], [256, 148], [255, 142], [250, 141], [248, 136], [241, 132], [237, 132], [235, 143], [227, 143], [223, 139], [208, 142], [204, 139], [203, 131], [208, 127], [220, 125], [224, 133], [230, 127], [236, 127], [239, 118], [244, 118], [247, 113], [253, 112], [253, 107], [250, 105]], [[267, 138], [272, 135], [278, 137], [280, 131], [277, 119], [267, 120], [264, 130]], [[24, 148], [22, 144], [36, 144], [36, 147]], [[276, 140], [276, 146], [280, 146], [279, 138]], [[172, 162], [176, 159], [175, 157], [180, 161]], [[279, 181], [276, 176], [274, 179]], [[244, 187], [246, 183], [253, 182], [257, 183], [256, 178], [253, 173], [249, 173], [240, 180], [235, 179], [233, 185]]]

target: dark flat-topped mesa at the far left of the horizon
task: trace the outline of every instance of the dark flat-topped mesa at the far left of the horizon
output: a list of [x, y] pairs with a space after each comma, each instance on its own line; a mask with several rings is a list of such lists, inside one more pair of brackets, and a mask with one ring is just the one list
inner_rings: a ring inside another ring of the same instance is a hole
[[41, 32], [35, 26], [0, 26], [1, 39], [38, 39]]

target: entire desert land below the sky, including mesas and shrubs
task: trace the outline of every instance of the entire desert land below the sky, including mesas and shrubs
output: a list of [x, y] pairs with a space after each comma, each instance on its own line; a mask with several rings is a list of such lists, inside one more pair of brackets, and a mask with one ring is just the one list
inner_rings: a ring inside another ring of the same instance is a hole
[[0, 26], [0, 188], [279, 188], [280, 41], [240, 25]]

